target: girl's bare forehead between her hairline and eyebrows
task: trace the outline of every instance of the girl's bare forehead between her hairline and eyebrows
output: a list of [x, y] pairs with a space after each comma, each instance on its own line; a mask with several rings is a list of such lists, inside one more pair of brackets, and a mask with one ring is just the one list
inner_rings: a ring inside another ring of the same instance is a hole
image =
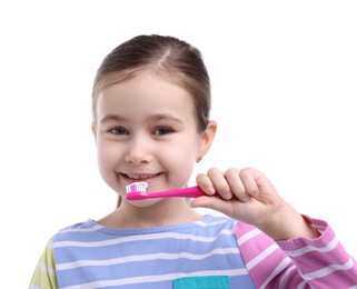
[[194, 114], [190, 93], [161, 74], [138, 73], [103, 87], [98, 91], [97, 113], [115, 111], [136, 113], [173, 112]]

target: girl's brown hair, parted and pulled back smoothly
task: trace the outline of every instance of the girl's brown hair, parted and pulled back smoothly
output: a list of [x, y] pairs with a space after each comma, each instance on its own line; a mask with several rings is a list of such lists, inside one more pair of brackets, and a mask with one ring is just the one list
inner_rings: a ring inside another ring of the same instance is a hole
[[[96, 121], [98, 92], [113, 83], [148, 71], [169, 78], [192, 97], [198, 132], [209, 122], [210, 80], [200, 51], [169, 36], [137, 36], [115, 48], [100, 64], [92, 91], [92, 116]], [[121, 198], [118, 199], [118, 207]]]

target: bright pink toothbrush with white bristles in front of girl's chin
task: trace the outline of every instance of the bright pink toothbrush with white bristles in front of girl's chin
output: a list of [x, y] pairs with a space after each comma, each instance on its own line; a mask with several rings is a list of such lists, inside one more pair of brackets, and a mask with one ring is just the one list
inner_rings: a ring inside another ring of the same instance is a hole
[[170, 197], [197, 198], [200, 196], [208, 196], [198, 186], [150, 193], [146, 191], [148, 183], [145, 181], [130, 183], [129, 186], [127, 186], [127, 200], [145, 200]]

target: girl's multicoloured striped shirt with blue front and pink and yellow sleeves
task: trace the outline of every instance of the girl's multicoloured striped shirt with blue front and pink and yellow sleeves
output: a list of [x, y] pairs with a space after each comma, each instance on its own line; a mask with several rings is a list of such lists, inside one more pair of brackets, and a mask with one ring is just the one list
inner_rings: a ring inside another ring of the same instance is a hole
[[317, 239], [274, 241], [226, 217], [149, 229], [92, 220], [51, 238], [30, 288], [357, 288], [357, 265], [324, 221]]

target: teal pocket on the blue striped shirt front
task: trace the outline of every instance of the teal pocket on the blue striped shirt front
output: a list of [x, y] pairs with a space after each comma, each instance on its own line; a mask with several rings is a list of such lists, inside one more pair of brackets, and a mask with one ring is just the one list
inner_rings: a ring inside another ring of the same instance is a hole
[[228, 276], [185, 277], [173, 280], [173, 289], [229, 289]]

